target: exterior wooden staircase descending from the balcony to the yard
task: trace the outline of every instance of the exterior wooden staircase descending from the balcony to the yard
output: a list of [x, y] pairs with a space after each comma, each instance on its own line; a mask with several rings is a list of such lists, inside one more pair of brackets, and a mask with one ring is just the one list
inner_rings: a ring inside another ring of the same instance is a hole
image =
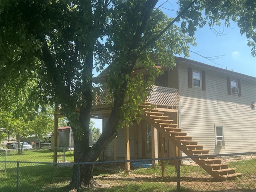
[[188, 136], [187, 132], [178, 128], [177, 124], [173, 124], [173, 120], [169, 118], [168, 112], [152, 108], [148, 103], [141, 105], [144, 114], [141, 117], [154, 126], [166, 139], [175, 144], [187, 156], [197, 156], [192, 158], [199, 166], [201, 166], [208, 174], [218, 181], [226, 179], [234, 179], [242, 176], [236, 173], [235, 168], [228, 168], [227, 163], [215, 157], [200, 157], [209, 154], [209, 150], [204, 149], [203, 145], [198, 145], [198, 141], [193, 140], [192, 136]]

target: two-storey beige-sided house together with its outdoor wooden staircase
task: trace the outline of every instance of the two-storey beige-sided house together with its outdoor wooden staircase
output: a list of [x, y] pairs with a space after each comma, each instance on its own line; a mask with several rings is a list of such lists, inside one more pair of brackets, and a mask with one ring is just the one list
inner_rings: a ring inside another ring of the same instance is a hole
[[[118, 130], [102, 158], [130, 160], [182, 153], [197, 155], [193, 160], [214, 178], [240, 176], [221, 160], [200, 155], [256, 150], [256, 78], [186, 58], [176, 57], [175, 62], [173, 70], [162, 69], [164, 74], [141, 105], [143, 120]], [[93, 118], [102, 118], [103, 128], [110, 114], [106, 95], [96, 96], [91, 111]]]

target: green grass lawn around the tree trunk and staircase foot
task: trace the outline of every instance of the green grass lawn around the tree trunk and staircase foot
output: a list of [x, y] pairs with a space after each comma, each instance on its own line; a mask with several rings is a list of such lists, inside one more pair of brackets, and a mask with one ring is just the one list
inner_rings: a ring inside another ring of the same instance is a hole
[[[18, 153], [18, 152], [17, 152]], [[7, 156], [9, 161], [52, 162], [53, 153], [50, 150], [27, 150], [24, 154], [12, 154]], [[62, 156], [58, 152], [60, 161]], [[67, 152], [65, 159], [72, 155]], [[3, 156], [0, 160], [3, 160]], [[72, 177], [72, 166], [53, 166], [49, 164], [22, 163], [19, 164], [19, 191], [23, 192], [66, 192], [67, 185]], [[0, 163], [0, 192], [16, 192], [17, 163], [7, 163], [4, 172], [4, 163]], [[231, 168], [243, 173], [242, 178], [227, 182], [213, 182], [210, 179], [200, 179], [208, 174], [198, 166], [182, 165], [180, 167], [181, 192], [196, 191], [224, 191], [224, 189], [236, 189], [226, 191], [255, 190], [256, 159], [230, 162]], [[109, 168], [106, 170], [105, 168]], [[95, 180], [100, 184], [96, 188], [81, 189], [80, 192], [174, 192], [177, 190], [177, 177], [175, 166], [165, 164], [165, 177], [162, 178], [161, 166], [152, 168], [138, 168], [130, 173], [124, 172], [124, 165], [98, 164], [93, 172]], [[223, 189], [223, 187], [226, 187]], [[245, 190], [241, 190], [245, 189]]]

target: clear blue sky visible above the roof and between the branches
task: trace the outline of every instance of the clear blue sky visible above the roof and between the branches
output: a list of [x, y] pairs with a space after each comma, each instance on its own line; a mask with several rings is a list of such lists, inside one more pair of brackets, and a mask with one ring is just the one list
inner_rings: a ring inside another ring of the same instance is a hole
[[[156, 7], [164, 2], [166, 0], [160, 0]], [[161, 8], [161, 10], [169, 17], [175, 17], [178, 9], [176, 2], [176, 0], [169, 0], [163, 5], [167, 9]], [[223, 25], [215, 26], [214, 29], [223, 32], [223, 35], [216, 36], [207, 25], [204, 28], [198, 28], [195, 33], [198, 45], [191, 46], [190, 50], [204, 57], [221, 57], [212, 62], [190, 52], [189, 59], [256, 77], [256, 58], [252, 57], [251, 48], [247, 46], [247, 39], [244, 35], [241, 36], [237, 24], [232, 22], [229, 28]], [[94, 122], [94, 126], [102, 130], [102, 120], [94, 120]]]

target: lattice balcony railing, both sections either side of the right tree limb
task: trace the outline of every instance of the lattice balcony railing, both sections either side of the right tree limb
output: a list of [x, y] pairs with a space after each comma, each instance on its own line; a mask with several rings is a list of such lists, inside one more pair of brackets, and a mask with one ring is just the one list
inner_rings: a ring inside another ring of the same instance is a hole
[[[108, 105], [114, 100], [108, 90], [94, 90], [95, 99], [93, 106]], [[152, 86], [152, 90], [149, 92], [146, 102], [150, 102], [157, 106], [179, 106], [179, 90], [175, 88]]]

